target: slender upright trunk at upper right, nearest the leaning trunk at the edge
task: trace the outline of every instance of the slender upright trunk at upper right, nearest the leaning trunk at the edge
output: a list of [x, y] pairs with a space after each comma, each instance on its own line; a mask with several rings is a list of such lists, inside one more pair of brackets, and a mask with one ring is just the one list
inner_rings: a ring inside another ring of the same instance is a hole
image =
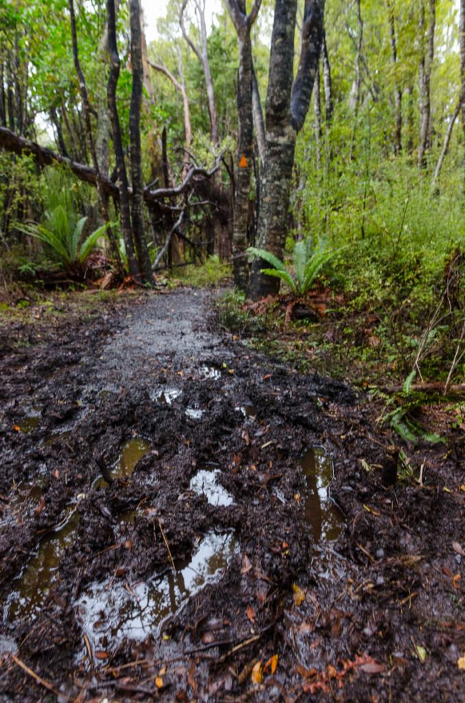
[[425, 1], [420, 0], [418, 33], [420, 44], [419, 91], [420, 91], [420, 135], [418, 145], [418, 166], [426, 168], [426, 151], [430, 136], [430, 81], [434, 56], [435, 0], [429, 0], [428, 38], [425, 46]]

